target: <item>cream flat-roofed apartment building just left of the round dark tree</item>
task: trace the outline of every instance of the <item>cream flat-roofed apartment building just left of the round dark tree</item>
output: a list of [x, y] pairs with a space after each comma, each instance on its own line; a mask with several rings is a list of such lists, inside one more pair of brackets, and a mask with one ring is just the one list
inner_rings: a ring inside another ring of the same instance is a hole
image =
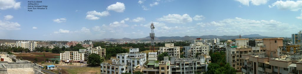
[[61, 62], [80, 62], [84, 61], [84, 53], [79, 53], [79, 51], [65, 51], [60, 53]]

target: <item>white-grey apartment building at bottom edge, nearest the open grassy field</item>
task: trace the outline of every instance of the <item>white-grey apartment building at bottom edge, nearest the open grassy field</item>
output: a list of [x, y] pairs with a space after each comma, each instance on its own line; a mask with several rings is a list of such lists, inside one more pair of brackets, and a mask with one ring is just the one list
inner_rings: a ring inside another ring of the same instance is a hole
[[122, 74], [128, 72], [128, 66], [120, 64], [119, 59], [112, 59], [112, 63], [101, 63], [101, 74]]

